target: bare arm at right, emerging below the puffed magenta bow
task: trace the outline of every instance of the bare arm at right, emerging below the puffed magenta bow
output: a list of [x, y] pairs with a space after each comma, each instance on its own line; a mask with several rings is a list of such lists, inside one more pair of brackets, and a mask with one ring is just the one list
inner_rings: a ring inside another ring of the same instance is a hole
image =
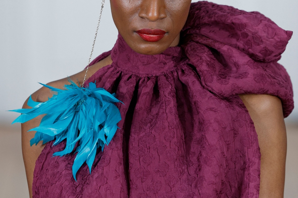
[[239, 95], [254, 122], [261, 151], [260, 198], [282, 198], [287, 137], [283, 109], [272, 95]]

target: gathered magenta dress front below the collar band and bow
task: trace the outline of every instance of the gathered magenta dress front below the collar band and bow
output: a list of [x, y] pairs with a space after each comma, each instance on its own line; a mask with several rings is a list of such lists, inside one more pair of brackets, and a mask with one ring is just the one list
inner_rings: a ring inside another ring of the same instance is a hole
[[[116, 92], [126, 104], [117, 104], [124, 117], [118, 124], [121, 129], [97, 154], [91, 175], [88, 166], [78, 171], [77, 183], [68, 173], [75, 155], [52, 158], [52, 152], [65, 145], [47, 144], [38, 158], [46, 166], [37, 162], [35, 168], [35, 197], [45, 191], [53, 197], [127, 197], [128, 189], [130, 197], [183, 197], [199, 192], [213, 197], [221, 189], [231, 196], [256, 196], [260, 151], [252, 120], [239, 97], [219, 99], [201, 85], [187, 63], [150, 78], [108, 65], [96, 79], [97, 87]], [[51, 186], [41, 182], [45, 180]], [[230, 190], [230, 186], [245, 190]]]

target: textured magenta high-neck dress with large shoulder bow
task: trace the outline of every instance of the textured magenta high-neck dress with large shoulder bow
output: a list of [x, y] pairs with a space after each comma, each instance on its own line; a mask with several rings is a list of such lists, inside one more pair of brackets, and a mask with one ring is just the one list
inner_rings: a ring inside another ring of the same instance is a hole
[[162, 54], [134, 52], [119, 35], [112, 65], [94, 73], [116, 93], [122, 120], [111, 143], [72, 176], [76, 154], [36, 161], [34, 198], [257, 198], [260, 148], [238, 94], [281, 99], [293, 109], [290, 78], [277, 63], [292, 32], [259, 12], [193, 3], [181, 45]]

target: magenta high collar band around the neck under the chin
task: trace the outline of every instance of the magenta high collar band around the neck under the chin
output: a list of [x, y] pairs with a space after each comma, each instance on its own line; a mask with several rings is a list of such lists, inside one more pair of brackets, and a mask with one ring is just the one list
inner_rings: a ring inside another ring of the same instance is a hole
[[111, 51], [111, 59], [113, 66], [141, 76], [156, 76], [187, 61], [181, 47], [169, 47], [156, 55], [136, 53], [120, 34]]

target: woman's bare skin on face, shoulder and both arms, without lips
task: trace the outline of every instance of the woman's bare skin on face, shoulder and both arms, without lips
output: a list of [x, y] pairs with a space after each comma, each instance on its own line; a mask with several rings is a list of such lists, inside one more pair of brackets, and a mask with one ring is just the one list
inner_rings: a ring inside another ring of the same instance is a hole
[[[140, 54], [159, 54], [168, 47], [177, 46], [179, 32], [187, 19], [190, 0], [110, 0], [114, 23], [126, 43]], [[135, 31], [143, 28], [162, 29], [165, 36], [157, 42], [143, 40]], [[87, 78], [100, 68], [110, 65], [111, 57], [89, 67]], [[70, 76], [82, 84], [85, 70]], [[62, 88], [69, 84], [66, 78], [53, 81], [48, 85]], [[239, 95], [249, 111], [257, 131], [261, 151], [260, 198], [283, 197], [285, 181], [286, 130], [283, 109], [279, 98], [271, 95]], [[32, 94], [32, 99], [45, 102], [52, 97], [49, 89], [42, 87]], [[23, 108], [30, 108], [25, 101]], [[30, 147], [34, 128], [41, 122], [42, 116], [22, 124], [22, 151], [26, 169], [30, 197], [35, 161], [45, 145], [41, 142]]]

